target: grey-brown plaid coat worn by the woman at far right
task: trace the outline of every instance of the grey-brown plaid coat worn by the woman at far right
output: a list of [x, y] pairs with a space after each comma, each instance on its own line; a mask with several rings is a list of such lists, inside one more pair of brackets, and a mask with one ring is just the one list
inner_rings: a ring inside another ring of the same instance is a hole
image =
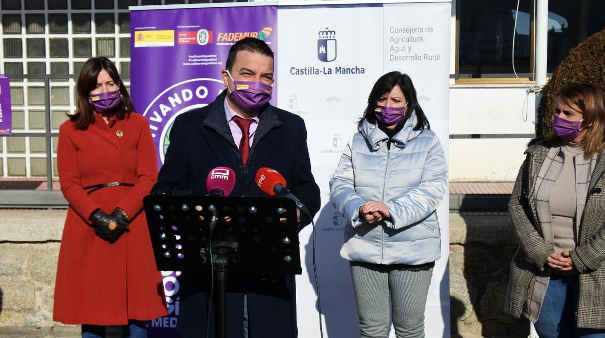
[[[534, 188], [540, 167], [551, 145], [537, 141], [525, 151], [527, 157], [521, 166], [508, 203], [512, 227], [520, 243], [512, 258], [504, 310], [520, 317], [528, 291], [536, 276], [544, 275], [546, 258], [554, 252], [546, 242], [537, 221]], [[570, 252], [574, 267], [579, 272], [577, 326], [605, 328], [605, 150], [597, 158], [588, 187], [586, 207], [579, 223], [580, 235], [576, 248]]]

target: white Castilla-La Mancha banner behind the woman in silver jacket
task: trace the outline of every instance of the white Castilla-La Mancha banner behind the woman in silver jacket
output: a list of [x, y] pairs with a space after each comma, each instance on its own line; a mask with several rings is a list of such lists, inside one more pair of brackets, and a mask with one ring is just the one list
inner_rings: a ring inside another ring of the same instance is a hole
[[[359, 336], [350, 270], [339, 255], [345, 221], [330, 204], [328, 181], [356, 132], [371, 87], [388, 71], [410, 75], [447, 157], [450, 15], [450, 2], [278, 7], [278, 106], [305, 120], [321, 189], [316, 268], [325, 337]], [[446, 195], [437, 210], [442, 255], [425, 310], [427, 337], [450, 337], [448, 210]], [[298, 330], [304, 338], [319, 337], [311, 230], [300, 233], [303, 273], [296, 277]], [[392, 328], [389, 337], [395, 337]]]

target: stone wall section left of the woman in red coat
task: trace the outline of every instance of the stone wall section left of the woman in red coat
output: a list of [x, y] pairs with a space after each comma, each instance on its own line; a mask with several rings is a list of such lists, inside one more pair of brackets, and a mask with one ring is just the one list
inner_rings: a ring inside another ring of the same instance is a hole
[[51, 327], [65, 210], [0, 210], [0, 332]]

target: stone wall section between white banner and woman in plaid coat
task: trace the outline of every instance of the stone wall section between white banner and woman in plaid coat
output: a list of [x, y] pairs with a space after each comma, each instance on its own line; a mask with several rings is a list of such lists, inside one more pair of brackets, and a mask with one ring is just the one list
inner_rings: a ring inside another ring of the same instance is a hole
[[528, 336], [528, 320], [514, 319], [502, 311], [515, 250], [507, 213], [450, 213], [453, 336]]

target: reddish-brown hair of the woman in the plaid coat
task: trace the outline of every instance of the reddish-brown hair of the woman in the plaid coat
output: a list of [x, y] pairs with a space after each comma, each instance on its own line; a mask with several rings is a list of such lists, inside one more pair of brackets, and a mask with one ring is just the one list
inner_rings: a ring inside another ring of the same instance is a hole
[[[564, 86], [557, 93], [557, 101], [567, 105], [577, 105], [582, 111], [583, 121], [580, 129], [586, 129], [582, 140], [584, 157], [592, 155], [605, 148], [605, 104], [603, 91], [598, 86], [585, 82], [575, 82]], [[562, 141], [554, 133], [549, 135], [549, 141]]]

